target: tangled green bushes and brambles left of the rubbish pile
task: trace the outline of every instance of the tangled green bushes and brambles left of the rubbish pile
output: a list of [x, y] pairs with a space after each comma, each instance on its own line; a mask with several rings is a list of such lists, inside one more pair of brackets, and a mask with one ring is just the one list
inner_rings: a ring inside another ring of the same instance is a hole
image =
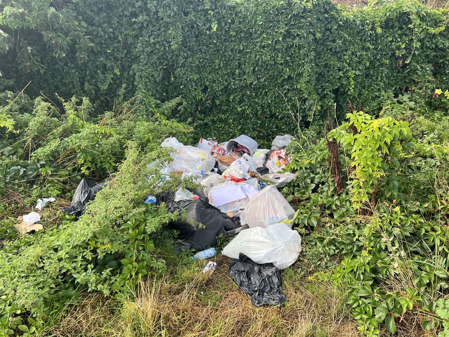
[[[170, 156], [160, 142], [170, 134], [189, 142], [191, 128], [164, 117], [182, 108], [180, 99], [153, 104], [145, 112], [108, 111], [96, 121], [84, 120], [88, 99], [64, 102], [65, 113], [41, 98], [27, 113], [9, 112], [16, 132], [1, 130], [2, 179], [11, 186], [2, 198], [9, 212], [0, 220], [0, 335], [39, 332], [82, 291], [125, 299], [139, 278], [164, 270], [153, 240], [177, 215], [143, 200], [180, 184], [176, 176], [161, 183], [160, 165]], [[30, 168], [37, 172], [29, 175]], [[13, 204], [15, 196], [34, 205], [37, 197], [70, 195], [83, 176], [107, 185], [78, 221], [48, 206], [40, 212], [44, 231], [17, 236], [13, 223], [24, 207]]]

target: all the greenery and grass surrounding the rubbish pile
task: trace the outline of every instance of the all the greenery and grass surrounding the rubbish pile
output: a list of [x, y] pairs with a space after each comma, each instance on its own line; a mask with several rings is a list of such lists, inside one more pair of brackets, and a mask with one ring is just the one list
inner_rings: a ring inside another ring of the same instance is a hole
[[[405, 0], [3, 1], [0, 336], [449, 336], [447, 25]], [[298, 138], [278, 308], [174, 256], [177, 214], [143, 204], [193, 184], [162, 179], [165, 137], [241, 133]], [[84, 177], [106, 187], [75, 221]]]

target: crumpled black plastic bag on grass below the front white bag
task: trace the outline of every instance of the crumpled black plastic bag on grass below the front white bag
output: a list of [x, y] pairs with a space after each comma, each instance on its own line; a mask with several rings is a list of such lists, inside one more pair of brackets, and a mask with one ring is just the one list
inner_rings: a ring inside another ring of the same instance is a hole
[[281, 273], [273, 263], [257, 264], [245, 254], [229, 262], [229, 277], [251, 296], [255, 306], [284, 304], [287, 295], [281, 289]]

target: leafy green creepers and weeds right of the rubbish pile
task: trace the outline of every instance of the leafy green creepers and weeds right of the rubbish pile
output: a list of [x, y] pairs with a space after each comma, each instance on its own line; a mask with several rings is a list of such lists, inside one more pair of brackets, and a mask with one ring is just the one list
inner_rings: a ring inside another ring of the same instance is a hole
[[354, 111], [324, 137], [301, 134], [288, 167], [298, 178], [283, 190], [309, 233], [305, 260], [347, 290], [366, 336], [410, 315], [426, 330], [444, 323], [434, 301], [448, 288], [449, 139], [438, 122], [405, 117]]

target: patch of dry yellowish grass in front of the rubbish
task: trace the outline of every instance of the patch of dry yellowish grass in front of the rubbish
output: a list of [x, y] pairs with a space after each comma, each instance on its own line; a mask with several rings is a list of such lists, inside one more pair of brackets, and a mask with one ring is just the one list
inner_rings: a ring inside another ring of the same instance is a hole
[[43, 336], [357, 336], [339, 292], [307, 281], [299, 268], [282, 272], [288, 300], [283, 306], [257, 308], [227, 275], [223, 258], [211, 275], [205, 262], [178, 266], [174, 275], [141, 284], [136, 300], [121, 310], [89, 296]]

